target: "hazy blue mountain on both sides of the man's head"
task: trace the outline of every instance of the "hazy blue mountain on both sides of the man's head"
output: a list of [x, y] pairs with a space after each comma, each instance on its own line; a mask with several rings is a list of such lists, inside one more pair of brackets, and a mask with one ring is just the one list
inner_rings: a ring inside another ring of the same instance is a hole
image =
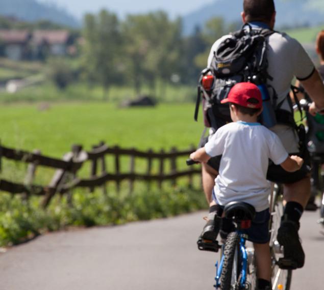
[[[323, 0], [275, 0], [276, 27], [314, 26], [324, 23]], [[222, 17], [227, 23], [241, 21], [243, 0], [215, 0], [209, 5], [183, 16], [183, 33], [189, 35], [196, 26], [203, 27], [212, 17]]]

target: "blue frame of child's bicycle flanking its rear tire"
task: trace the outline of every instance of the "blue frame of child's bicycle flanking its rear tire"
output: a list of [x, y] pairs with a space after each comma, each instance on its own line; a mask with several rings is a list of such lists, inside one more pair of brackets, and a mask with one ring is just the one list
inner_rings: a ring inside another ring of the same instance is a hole
[[[240, 244], [239, 244], [239, 252], [238, 254], [240, 255], [240, 261], [241, 261], [241, 279], [240, 279], [240, 288], [245, 289], [245, 283], [246, 283], [246, 275], [247, 275], [247, 252], [246, 252], [246, 248], [245, 248], [245, 235], [243, 233], [241, 233], [240, 231], [237, 231], [237, 233], [240, 236]], [[220, 274], [223, 268], [223, 261], [224, 261], [224, 251], [223, 248], [225, 247], [225, 245], [222, 245], [222, 255], [220, 258], [220, 263], [219, 263], [219, 267], [218, 267], [218, 261], [215, 264], [216, 267], [216, 277], [215, 277], [215, 281], [216, 284], [214, 285], [214, 287], [216, 289], [218, 289], [221, 285], [219, 283], [219, 279], [220, 279]]]

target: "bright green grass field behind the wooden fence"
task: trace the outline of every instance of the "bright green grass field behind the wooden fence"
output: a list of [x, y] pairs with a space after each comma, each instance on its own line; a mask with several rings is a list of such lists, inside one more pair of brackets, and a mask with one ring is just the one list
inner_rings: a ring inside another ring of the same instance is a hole
[[193, 103], [160, 104], [146, 108], [119, 108], [104, 102], [55, 103], [46, 110], [41, 104], [0, 107], [1, 142], [24, 150], [39, 149], [61, 157], [72, 144], [85, 150], [99, 141], [110, 146], [141, 150], [187, 149], [196, 144], [202, 121], [193, 121]]

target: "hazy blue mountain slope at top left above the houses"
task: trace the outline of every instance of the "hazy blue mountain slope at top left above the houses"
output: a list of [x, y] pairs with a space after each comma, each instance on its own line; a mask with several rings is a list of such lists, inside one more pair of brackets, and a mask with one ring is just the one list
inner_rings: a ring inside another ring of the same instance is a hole
[[78, 20], [56, 5], [41, 4], [36, 0], [0, 0], [0, 15], [26, 21], [49, 20], [70, 27], [81, 25]]

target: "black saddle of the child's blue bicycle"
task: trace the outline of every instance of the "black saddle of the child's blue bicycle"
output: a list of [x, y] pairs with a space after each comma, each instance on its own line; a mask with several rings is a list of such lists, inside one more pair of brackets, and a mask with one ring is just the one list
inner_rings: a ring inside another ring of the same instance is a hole
[[253, 220], [256, 211], [254, 206], [242, 201], [232, 201], [225, 206], [225, 217], [237, 221]]

